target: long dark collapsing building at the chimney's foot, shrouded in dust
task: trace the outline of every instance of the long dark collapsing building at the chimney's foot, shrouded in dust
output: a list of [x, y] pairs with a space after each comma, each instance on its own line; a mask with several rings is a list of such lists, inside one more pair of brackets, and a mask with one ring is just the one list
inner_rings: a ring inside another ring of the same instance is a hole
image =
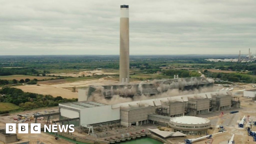
[[106, 99], [111, 99], [114, 95], [132, 98], [142, 94], [150, 96], [161, 94], [169, 89], [191, 90], [211, 86], [213, 83], [202, 77], [158, 80], [140, 84], [91, 85], [89, 88], [78, 89], [78, 101], [89, 100], [93, 95], [102, 96]]

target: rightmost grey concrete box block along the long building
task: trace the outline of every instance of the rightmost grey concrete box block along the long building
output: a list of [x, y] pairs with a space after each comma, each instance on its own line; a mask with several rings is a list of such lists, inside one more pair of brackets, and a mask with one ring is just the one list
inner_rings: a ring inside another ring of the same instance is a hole
[[211, 98], [212, 111], [231, 108], [232, 97], [228, 95], [215, 95]]

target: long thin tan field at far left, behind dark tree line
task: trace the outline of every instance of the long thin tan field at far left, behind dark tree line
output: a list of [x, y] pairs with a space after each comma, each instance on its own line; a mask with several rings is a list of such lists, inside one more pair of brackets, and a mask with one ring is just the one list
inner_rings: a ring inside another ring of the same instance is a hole
[[21, 80], [21, 79], [38, 79], [38, 80], [42, 80], [42, 79], [51, 79], [51, 78], [55, 78], [55, 77], [43, 77], [43, 76], [29, 76], [29, 75], [10, 75], [10, 76], [0, 76], [0, 79], [6, 79], [6, 80]]

